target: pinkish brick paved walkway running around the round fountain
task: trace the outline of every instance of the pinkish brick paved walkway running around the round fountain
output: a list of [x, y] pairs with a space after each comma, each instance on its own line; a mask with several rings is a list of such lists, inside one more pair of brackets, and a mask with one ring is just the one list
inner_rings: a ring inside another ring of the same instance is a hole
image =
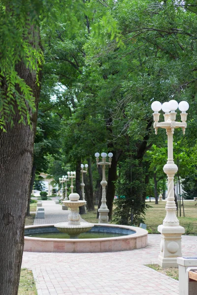
[[[54, 204], [55, 210], [57, 206]], [[65, 217], [64, 210], [60, 211]], [[144, 266], [157, 263], [159, 248], [160, 235], [149, 235], [146, 248], [132, 251], [24, 252], [22, 267], [33, 270], [38, 295], [178, 294], [177, 281]], [[197, 256], [197, 236], [183, 236], [182, 252], [183, 256]]]

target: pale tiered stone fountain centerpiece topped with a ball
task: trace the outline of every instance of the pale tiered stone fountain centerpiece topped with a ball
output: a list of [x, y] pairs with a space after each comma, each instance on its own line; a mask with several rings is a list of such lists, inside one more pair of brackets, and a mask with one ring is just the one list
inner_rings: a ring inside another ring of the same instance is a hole
[[63, 201], [62, 203], [70, 207], [70, 213], [68, 214], [68, 222], [60, 222], [54, 224], [60, 232], [66, 233], [70, 238], [78, 238], [79, 234], [88, 232], [94, 227], [93, 223], [80, 222], [79, 207], [86, 204], [86, 201], [79, 200], [79, 195], [71, 193], [69, 195], [69, 201]]

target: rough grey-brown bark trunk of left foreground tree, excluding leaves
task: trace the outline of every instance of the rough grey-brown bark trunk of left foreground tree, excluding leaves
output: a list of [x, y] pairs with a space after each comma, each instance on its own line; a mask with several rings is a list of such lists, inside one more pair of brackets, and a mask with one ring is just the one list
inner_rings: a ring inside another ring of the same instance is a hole
[[[33, 27], [30, 35], [32, 42], [38, 45], [38, 34]], [[15, 111], [13, 126], [8, 123], [7, 132], [0, 130], [0, 294], [2, 295], [18, 293], [40, 92], [35, 72], [31, 72], [22, 61], [16, 66], [16, 71], [33, 90], [36, 112], [33, 113], [27, 106], [32, 127], [27, 124], [26, 118], [24, 118], [26, 124], [19, 124], [20, 114], [16, 101], [13, 106]], [[6, 91], [6, 82], [3, 82], [1, 88]]]

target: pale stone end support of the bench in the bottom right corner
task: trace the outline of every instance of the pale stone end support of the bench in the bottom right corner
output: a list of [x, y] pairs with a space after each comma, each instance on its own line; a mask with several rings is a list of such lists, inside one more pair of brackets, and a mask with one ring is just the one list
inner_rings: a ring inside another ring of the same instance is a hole
[[179, 295], [197, 295], [197, 281], [189, 279], [189, 271], [197, 270], [197, 257], [177, 257]]

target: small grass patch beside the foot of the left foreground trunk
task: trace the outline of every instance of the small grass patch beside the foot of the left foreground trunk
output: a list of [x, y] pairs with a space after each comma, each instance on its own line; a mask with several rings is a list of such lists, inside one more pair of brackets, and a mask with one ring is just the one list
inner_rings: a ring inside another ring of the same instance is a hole
[[27, 268], [21, 268], [18, 295], [37, 295], [33, 273]]

